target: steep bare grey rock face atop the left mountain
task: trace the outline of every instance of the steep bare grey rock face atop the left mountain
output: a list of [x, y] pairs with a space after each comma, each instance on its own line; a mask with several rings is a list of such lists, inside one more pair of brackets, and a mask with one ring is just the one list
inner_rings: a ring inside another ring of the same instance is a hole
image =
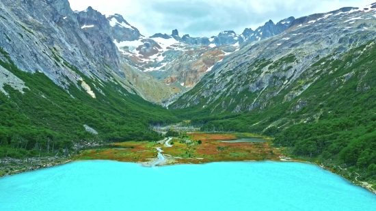
[[107, 80], [102, 55], [95, 53], [67, 5], [68, 1], [1, 1], [1, 48], [21, 70], [42, 71], [66, 89], [68, 81], [77, 85], [81, 78], [64, 61], [87, 76]]

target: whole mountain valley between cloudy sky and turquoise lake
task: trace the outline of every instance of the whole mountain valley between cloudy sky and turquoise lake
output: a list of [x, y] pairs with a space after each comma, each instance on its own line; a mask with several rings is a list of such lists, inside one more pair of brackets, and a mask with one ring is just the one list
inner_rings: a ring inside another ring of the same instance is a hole
[[376, 193], [376, 3], [195, 38], [2, 0], [0, 31], [0, 177], [272, 160]]

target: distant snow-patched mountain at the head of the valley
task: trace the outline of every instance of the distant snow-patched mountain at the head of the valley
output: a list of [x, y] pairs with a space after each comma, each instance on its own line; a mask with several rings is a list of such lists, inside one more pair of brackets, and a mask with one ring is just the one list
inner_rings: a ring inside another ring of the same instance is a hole
[[[88, 10], [82, 13], [86, 12]], [[194, 87], [217, 62], [230, 53], [238, 51], [241, 44], [257, 42], [282, 33], [295, 20], [293, 17], [287, 18], [277, 25], [269, 21], [258, 28], [258, 33], [252, 35], [244, 33], [245, 36], [238, 35], [234, 31], [223, 31], [211, 38], [192, 38], [188, 34], [180, 38], [178, 30], [174, 29], [171, 35], [155, 33], [146, 38], [122, 16], [117, 14], [116, 17], [109, 16], [107, 20], [111, 23], [111, 37], [122, 59], [137, 70], [147, 72], [153, 78], [172, 87], [178, 94], [183, 94]], [[126, 36], [121, 39], [114, 36], [114, 34], [122, 34], [118, 31], [120, 29], [126, 31], [124, 32]], [[248, 29], [250, 30], [252, 29]], [[135, 36], [129, 36], [130, 32]]]

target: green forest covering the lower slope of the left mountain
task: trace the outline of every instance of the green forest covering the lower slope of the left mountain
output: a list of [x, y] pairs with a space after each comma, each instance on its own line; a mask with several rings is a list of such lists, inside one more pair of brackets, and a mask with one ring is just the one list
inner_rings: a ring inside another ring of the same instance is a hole
[[[96, 94], [92, 98], [73, 83], [64, 90], [41, 72], [18, 70], [8, 53], [1, 48], [0, 53], [8, 60], [0, 59], [0, 65], [29, 88], [21, 94], [5, 85], [9, 96], [0, 92], [0, 158], [68, 156], [81, 142], [159, 140], [161, 135], [151, 130], [150, 124], [178, 122], [161, 106], [129, 94], [118, 83], [100, 85], [66, 61], [65, 66], [86, 83], [100, 87], [103, 94], [92, 87]], [[94, 128], [98, 135], [87, 132], [84, 125]]]

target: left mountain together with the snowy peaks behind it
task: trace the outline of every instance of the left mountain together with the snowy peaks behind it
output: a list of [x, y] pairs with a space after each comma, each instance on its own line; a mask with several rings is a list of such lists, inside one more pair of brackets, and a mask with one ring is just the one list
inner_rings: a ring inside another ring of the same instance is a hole
[[178, 118], [157, 104], [240, 47], [233, 31], [198, 39], [206, 44], [176, 29], [146, 38], [120, 14], [74, 12], [68, 0], [1, 1], [0, 29], [0, 143], [22, 146], [0, 154], [14, 157], [45, 141], [66, 154], [77, 144], [159, 139], [150, 124]]

